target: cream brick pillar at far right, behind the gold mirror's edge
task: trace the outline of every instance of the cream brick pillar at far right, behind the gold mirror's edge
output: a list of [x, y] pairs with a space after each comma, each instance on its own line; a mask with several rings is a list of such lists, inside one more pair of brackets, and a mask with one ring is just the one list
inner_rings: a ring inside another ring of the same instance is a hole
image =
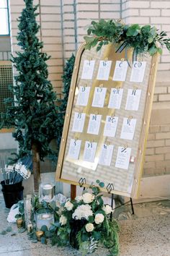
[[[166, 30], [170, 35], [170, 1], [122, 0], [122, 19], [128, 23], [146, 23]], [[158, 65], [153, 109], [143, 175], [170, 173], [170, 54], [164, 48]]]

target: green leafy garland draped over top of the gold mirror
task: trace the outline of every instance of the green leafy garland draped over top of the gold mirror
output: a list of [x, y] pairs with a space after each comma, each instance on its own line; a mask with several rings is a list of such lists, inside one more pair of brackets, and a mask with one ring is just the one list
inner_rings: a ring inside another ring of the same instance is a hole
[[121, 52], [124, 48], [134, 48], [135, 55], [148, 52], [151, 56], [162, 53], [160, 46], [166, 46], [170, 51], [170, 38], [165, 31], [158, 33], [156, 27], [151, 25], [140, 26], [138, 24], [124, 25], [115, 20], [99, 20], [91, 22], [85, 36], [86, 49], [97, 46], [99, 51], [108, 43], [116, 43]]

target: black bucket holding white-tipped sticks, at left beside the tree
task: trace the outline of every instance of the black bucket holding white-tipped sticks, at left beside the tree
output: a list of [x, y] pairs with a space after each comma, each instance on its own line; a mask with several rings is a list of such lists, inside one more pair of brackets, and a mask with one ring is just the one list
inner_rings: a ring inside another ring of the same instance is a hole
[[2, 181], [1, 187], [6, 208], [11, 208], [14, 203], [23, 199], [24, 187], [22, 187], [22, 182], [7, 185]]

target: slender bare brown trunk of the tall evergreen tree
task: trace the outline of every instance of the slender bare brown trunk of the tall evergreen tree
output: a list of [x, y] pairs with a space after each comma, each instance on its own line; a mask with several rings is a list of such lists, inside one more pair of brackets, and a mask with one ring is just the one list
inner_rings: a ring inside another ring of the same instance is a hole
[[41, 177], [40, 177], [40, 156], [38, 152], [38, 147], [35, 143], [32, 144], [32, 164], [33, 164], [35, 193], [37, 193], [39, 190]]

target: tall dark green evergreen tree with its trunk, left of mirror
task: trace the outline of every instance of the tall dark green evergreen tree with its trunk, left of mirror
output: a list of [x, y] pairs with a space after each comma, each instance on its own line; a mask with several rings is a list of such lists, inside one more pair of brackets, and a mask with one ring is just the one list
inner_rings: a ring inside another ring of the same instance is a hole
[[36, 36], [40, 28], [36, 22], [37, 6], [33, 6], [33, 0], [24, 2], [25, 8], [19, 17], [17, 35], [22, 51], [12, 56], [17, 69], [13, 87], [14, 99], [6, 101], [10, 106], [2, 114], [1, 127], [15, 127], [13, 137], [19, 142], [19, 158], [32, 153], [37, 191], [40, 183], [40, 160], [54, 154], [49, 144], [61, 135], [63, 120], [58, 114], [56, 95], [48, 80], [46, 61], [49, 57], [42, 52], [42, 42]]

